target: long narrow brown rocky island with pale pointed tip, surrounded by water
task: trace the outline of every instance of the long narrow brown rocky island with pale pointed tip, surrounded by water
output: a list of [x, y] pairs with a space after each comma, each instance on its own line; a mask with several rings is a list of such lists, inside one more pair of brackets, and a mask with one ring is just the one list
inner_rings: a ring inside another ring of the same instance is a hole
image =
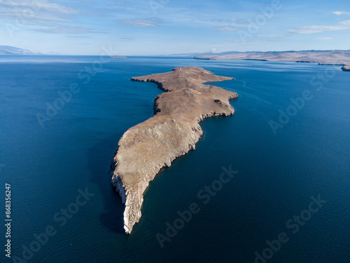
[[201, 67], [176, 67], [172, 72], [132, 78], [149, 81], [166, 91], [155, 97], [154, 116], [128, 129], [118, 142], [111, 162], [111, 181], [123, 203], [124, 229], [130, 234], [141, 217], [144, 191], [162, 167], [195, 149], [203, 130], [200, 121], [211, 116], [230, 116], [229, 100], [237, 93], [209, 81], [228, 81]]

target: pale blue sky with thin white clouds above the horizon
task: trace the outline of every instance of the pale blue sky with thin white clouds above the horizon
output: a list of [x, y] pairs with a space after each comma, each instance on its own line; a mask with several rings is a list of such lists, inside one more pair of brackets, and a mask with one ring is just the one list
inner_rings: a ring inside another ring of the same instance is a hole
[[0, 0], [0, 45], [166, 55], [350, 49], [349, 0]]

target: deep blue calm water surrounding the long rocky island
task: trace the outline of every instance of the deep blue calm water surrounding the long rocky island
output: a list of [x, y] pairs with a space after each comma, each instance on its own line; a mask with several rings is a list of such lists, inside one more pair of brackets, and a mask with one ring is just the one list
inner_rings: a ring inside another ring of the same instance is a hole
[[[28, 262], [246, 263], [283, 232], [288, 242], [267, 262], [350, 262], [348, 72], [292, 62], [128, 58], [98, 68], [98, 61], [0, 57], [0, 173], [1, 185], [12, 187], [13, 256], [22, 257], [23, 245], [52, 225], [56, 234]], [[109, 164], [121, 135], [153, 116], [162, 92], [130, 78], [188, 65], [236, 78], [215, 83], [239, 94], [231, 102], [235, 115], [201, 123], [197, 149], [151, 182], [141, 221], [127, 236]], [[321, 90], [318, 76], [325, 78]], [[37, 114], [45, 115], [72, 83], [77, 92], [42, 128]], [[279, 110], [304, 90], [311, 100], [275, 135], [269, 121], [278, 122]], [[223, 166], [237, 175], [204, 203], [198, 192], [218, 180]], [[73, 209], [86, 187], [94, 196], [61, 227], [62, 215], [55, 215]], [[327, 203], [293, 234], [288, 220], [318, 195]], [[166, 223], [191, 203], [200, 212], [161, 248], [156, 234], [165, 235]]]

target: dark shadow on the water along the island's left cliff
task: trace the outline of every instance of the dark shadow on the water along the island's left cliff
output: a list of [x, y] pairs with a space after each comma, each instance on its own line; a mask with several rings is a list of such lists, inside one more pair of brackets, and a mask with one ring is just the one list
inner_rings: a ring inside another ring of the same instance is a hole
[[116, 234], [125, 234], [123, 220], [125, 205], [111, 184], [109, 168], [116, 146], [123, 133], [120, 132], [100, 140], [98, 144], [90, 147], [87, 152], [87, 168], [92, 174], [91, 182], [99, 187], [104, 203], [100, 220], [104, 227]]

